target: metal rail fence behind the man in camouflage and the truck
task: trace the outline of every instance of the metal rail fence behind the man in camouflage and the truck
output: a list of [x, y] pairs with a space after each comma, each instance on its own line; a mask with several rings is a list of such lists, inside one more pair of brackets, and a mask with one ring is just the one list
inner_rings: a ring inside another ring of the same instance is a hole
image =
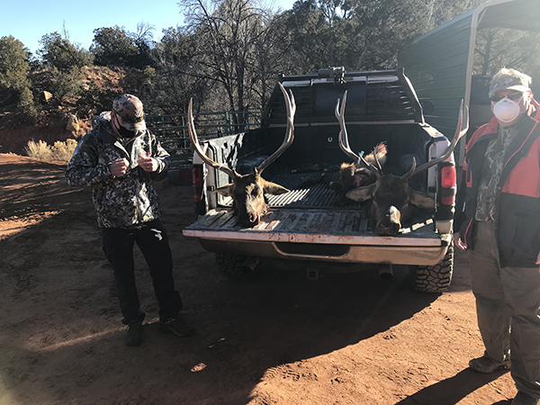
[[[92, 128], [97, 118], [92, 116]], [[148, 130], [171, 155], [171, 168], [191, 168], [193, 147], [187, 132], [187, 114], [146, 114], [144, 120]], [[259, 127], [261, 112], [201, 112], [193, 114], [193, 120], [198, 138], [212, 139]]]

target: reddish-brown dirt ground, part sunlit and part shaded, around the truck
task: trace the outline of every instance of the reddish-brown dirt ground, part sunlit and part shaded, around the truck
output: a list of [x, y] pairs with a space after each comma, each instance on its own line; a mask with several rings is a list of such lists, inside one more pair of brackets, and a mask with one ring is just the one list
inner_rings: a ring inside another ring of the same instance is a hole
[[[0, 404], [506, 404], [509, 373], [467, 368], [482, 355], [466, 257], [449, 293], [410, 289], [408, 272], [308, 280], [264, 262], [221, 276], [182, 229], [192, 189], [160, 191], [175, 280], [193, 338], [157, 330], [157, 302], [136, 251], [141, 347], [124, 327], [91, 194], [65, 166], [0, 154]], [[306, 268], [309, 265], [306, 265]]]

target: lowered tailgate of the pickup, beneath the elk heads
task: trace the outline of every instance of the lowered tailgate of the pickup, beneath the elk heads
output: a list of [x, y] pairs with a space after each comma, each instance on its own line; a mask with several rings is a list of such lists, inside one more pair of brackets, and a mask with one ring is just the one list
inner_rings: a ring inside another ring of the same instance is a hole
[[380, 236], [361, 210], [273, 208], [253, 228], [240, 228], [232, 210], [209, 211], [184, 236], [230, 241], [296, 242], [311, 244], [440, 247], [433, 220], [422, 219], [397, 236]]

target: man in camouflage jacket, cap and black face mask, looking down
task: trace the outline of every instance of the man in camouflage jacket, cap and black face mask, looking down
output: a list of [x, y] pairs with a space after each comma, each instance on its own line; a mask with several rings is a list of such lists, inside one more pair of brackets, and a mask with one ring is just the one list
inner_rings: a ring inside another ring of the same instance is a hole
[[103, 251], [114, 269], [122, 322], [128, 325], [128, 346], [141, 343], [145, 317], [135, 285], [134, 243], [154, 282], [160, 329], [177, 336], [193, 334], [178, 315], [182, 299], [175, 290], [171, 250], [152, 184], [169, 164], [168, 153], [146, 129], [139, 98], [122, 94], [113, 101], [112, 112], [103, 112], [81, 139], [67, 165], [68, 184], [92, 186]]

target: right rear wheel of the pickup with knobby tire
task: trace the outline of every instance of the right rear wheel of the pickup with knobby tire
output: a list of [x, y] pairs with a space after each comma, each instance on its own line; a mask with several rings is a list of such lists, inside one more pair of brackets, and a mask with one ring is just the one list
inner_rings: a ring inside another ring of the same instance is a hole
[[454, 273], [454, 241], [435, 266], [412, 266], [415, 290], [421, 293], [446, 293]]

